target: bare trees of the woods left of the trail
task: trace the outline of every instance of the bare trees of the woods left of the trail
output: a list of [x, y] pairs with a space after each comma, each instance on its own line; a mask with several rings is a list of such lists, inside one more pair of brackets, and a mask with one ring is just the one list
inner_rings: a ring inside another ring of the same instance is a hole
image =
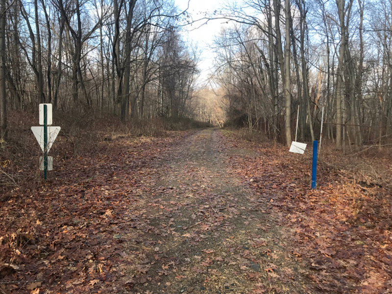
[[122, 120], [188, 115], [196, 52], [172, 1], [4, 1], [1, 16], [3, 133], [6, 108], [44, 102]]

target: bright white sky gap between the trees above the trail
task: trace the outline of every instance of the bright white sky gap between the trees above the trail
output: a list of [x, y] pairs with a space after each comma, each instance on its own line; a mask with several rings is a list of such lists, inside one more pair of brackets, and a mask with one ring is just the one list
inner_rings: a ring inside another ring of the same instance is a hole
[[[193, 20], [197, 20], [204, 16], [204, 13], [213, 13], [214, 10], [223, 6], [222, 0], [190, 0], [188, 13]], [[188, 5], [188, 0], [175, 0], [175, 4], [180, 10], [185, 10]], [[214, 36], [218, 35], [221, 28], [226, 25], [223, 20], [211, 20], [207, 24], [204, 22], [185, 27], [183, 32], [184, 38], [192, 43], [200, 50], [200, 62], [198, 69], [201, 71], [197, 79], [198, 85], [206, 83], [208, 76], [213, 72], [214, 51], [211, 49], [213, 45]]]

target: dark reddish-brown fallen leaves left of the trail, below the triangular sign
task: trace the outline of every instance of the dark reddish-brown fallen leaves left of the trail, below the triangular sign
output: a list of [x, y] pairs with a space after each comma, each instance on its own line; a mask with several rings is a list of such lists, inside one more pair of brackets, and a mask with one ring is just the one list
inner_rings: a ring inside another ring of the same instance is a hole
[[[30, 283], [24, 289], [36, 291], [39, 287], [38, 291], [45, 292], [49, 288], [55, 291], [55, 285], [64, 285], [69, 292], [89, 293], [83, 287], [122, 276], [121, 264], [131, 263], [128, 257], [117, 259], [116, 252], [123, 249], [128, 236], [124, 232], [133, 238], [135, 230], [151, 231], [139, 213], [142, 209], [133, 206], [137, 201], [133, 195], [145, 193], [134, 170], [146, 167], [181, 136], [142, 142], [131, 152], [130, 141], [105, 143], [98, 146], [105, 150], [99, 156], [88, 151], [72, 164], [56, 167], [53, 175], [60, 181], [49, 181], [36, 194], [26, 190], [27, 196], [11, 198], [7, 205], [2, 203], [1, 279], [23, 281], [27, 276], [29, 280], [42, 277], [41, 286]], [[123, 165], [123, 160], [127, 165]], [[5, 228], [6, 223], [12, 225]], [[140, 265], [135, 269], [140, 281], [148, 279], [143, 275], [148, 274], [150, 265], [143, 264], [144, 259], [136, 256], [132, 260], [132, 264]], [[9, 293], [6, 288], [18, 289], [20, 285], [9, 283], [0, 286], [0, 290], [4, 288]], [[22, 288], [19, 293], [24, 293]]]

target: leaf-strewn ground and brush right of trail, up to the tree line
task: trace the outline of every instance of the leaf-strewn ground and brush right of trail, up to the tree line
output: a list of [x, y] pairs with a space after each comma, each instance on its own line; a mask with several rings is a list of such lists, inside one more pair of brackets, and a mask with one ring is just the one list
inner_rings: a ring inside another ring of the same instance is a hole
[[[225, 131], [231, 147], [256, 150], [257, 157], [233, 158], [236, 172], [259, 196], [260, 209], [278, 215], [308, 277], [327, 293], [389, 293], [392, 285], [391, 149], [363, 147], [343, 154], [323, 142], [317, 189], [311, 190], [312, 145], [290, 153], [273, 142], [245, 142]], [[309, 143], [309, 142], [307, 142]], [[353, 148], [354, 149], [354, 148]], [[351, 151], [346, 148], [346, 151]], [[320, 273], [322, 270], [322, 274]]]

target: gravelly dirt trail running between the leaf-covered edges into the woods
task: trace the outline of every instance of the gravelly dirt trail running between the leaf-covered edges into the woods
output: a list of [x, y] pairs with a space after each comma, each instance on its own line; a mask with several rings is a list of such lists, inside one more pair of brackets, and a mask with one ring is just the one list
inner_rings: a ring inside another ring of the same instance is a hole
[[[229, 166], [254, 151], [221, 130], [186, 138], [143, 174], [145, 271], [124, 276], [136, 293], [306, 293], [306, 270], [264, 200]], [[149, 202], [149, 203], [147, 203]], [[140, 233], [140, 232], [139, 232]], [[126, 250], [140, 250], [127, 243]], [[143, 283], [144, 282], [144, 283]]]

